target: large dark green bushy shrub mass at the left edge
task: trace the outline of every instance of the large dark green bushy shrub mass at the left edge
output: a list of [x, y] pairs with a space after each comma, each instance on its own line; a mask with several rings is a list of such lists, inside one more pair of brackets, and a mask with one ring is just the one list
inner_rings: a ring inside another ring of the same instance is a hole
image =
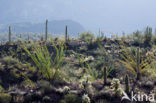
[[33, 79], [36, 76], [36, 68], [21, 63], [18, 59], [11, 56], [2, 58], [0, 62], [2, 65], [0, 66], [1, 84], [5, 85], [5, 87], [14, 83], [20, 83], [25, 77]]

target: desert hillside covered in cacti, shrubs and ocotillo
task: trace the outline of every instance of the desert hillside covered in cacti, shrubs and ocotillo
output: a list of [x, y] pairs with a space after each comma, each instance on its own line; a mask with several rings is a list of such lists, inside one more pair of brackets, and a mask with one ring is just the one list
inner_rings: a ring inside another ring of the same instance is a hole
[[[73, 39], [66, 26], [64, 38], [51, 38], [46, 20], [45, 36], [36, 40], [31, 34], [12, 40], [8, 30], [0, 45], [0, 103], [136, 103], [132, 92], [156, 96], [150, 27], [114, 38], [88, 31]], [[149, 102], [144, 96], [139, 103]]]

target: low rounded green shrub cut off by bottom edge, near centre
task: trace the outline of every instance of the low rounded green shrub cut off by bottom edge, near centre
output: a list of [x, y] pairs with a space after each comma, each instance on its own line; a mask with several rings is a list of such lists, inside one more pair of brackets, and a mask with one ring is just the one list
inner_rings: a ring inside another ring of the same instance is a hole
[[82, 103], [82, 101], [76, 94], [67, 94], [60, 103]]

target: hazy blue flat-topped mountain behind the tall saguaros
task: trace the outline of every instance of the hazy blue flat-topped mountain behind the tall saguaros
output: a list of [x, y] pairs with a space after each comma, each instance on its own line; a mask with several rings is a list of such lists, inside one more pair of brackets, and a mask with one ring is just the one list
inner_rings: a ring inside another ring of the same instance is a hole
[[[45, 23], [13, 23], [10, 24], [12, 32], [16, 33], [45, 33]], [[48, 22], [48, 32], [52, 34], [64, 34], [65, 26], [68, 25], [68, 33], [77, 35], [83, 32], [84, 27], [72, 20], [54, 20]], [[0, 33], [8, 32], [8, 24], [0, 24]]]

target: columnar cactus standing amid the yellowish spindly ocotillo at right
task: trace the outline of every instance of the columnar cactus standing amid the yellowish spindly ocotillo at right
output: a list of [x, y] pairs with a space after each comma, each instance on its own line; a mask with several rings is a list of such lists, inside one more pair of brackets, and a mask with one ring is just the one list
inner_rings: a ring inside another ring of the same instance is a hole
[[140, 48], [137, 48], [137, 80], [140, 80]]

